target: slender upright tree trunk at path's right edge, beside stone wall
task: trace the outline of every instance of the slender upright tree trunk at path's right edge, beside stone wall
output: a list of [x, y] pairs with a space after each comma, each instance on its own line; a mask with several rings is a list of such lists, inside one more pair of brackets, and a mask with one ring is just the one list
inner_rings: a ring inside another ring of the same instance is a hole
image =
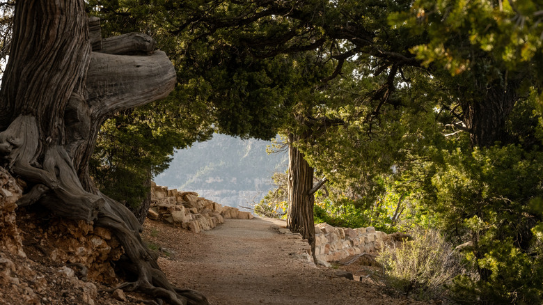
[[313, 189], [313, 167], [309, 166], [304, 155], [293, 145], [297, 140], [297, 136], [294, 134], [289, 135], [287, 228], [294, 233], [300, 233], [308, 240], [314, 256], [313, 205], [315, 196], [310, 194], [310, 190]]

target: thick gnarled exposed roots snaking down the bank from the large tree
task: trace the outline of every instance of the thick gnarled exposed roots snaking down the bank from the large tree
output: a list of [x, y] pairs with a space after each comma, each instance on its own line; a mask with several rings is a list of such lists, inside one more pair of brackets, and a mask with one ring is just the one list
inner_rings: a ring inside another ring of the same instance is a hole
[[[61, 217], [93, 221], [116, 235], [125, 250], [126, 263], [120, 265], [137, 279], [118, 288], [138, 290], [175, 305], [209, 304], [198, 292], [178, 290], [168, 282], [156, 257], [141, 241], [141, 225], [134, 214], [99, 191], [86, 191], [64, 146], [47, 141], [40, 145], [36, 118], [19, 116], [0, 132], [0, 150], [8, 152], [3, 157], [10, 171], [31, 182], [30, 191], [19, 201], [21, 205], [39, 203]], [[36, 162], [38, 156], [41, 166]]]

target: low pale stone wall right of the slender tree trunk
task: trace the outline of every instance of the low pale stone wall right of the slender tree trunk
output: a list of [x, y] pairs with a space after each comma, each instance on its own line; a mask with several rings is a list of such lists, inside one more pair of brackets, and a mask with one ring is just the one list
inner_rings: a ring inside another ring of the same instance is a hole
[[338, 228], [322, 223], [315, 226], [315, 258], [320, 262], [343, 260], [361, 253], [376, 253], [396, 235], [368, 228]]

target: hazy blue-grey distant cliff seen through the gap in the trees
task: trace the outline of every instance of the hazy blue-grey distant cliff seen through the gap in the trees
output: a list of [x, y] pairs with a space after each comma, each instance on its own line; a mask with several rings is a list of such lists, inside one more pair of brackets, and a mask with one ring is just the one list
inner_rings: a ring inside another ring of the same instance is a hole
[[286, 152], [268, 155], [271, 143], [215, 134], [175, 153], [170, 167], [158, 175], [158, 185], [196, 191], [212, 201], [237, 207], [272, 189], [272, 173], [288, 167]]

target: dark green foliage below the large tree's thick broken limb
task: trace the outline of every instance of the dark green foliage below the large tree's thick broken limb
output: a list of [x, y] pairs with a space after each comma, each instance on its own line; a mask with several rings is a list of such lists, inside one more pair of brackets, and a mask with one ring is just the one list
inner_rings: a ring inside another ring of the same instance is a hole
[[171, 102], [124, 111], [102, 125], [89, 170], [104, 194], [138, 208], [149, 180], [168, 167], [174, 148], [211, 136], [203, 118]]

